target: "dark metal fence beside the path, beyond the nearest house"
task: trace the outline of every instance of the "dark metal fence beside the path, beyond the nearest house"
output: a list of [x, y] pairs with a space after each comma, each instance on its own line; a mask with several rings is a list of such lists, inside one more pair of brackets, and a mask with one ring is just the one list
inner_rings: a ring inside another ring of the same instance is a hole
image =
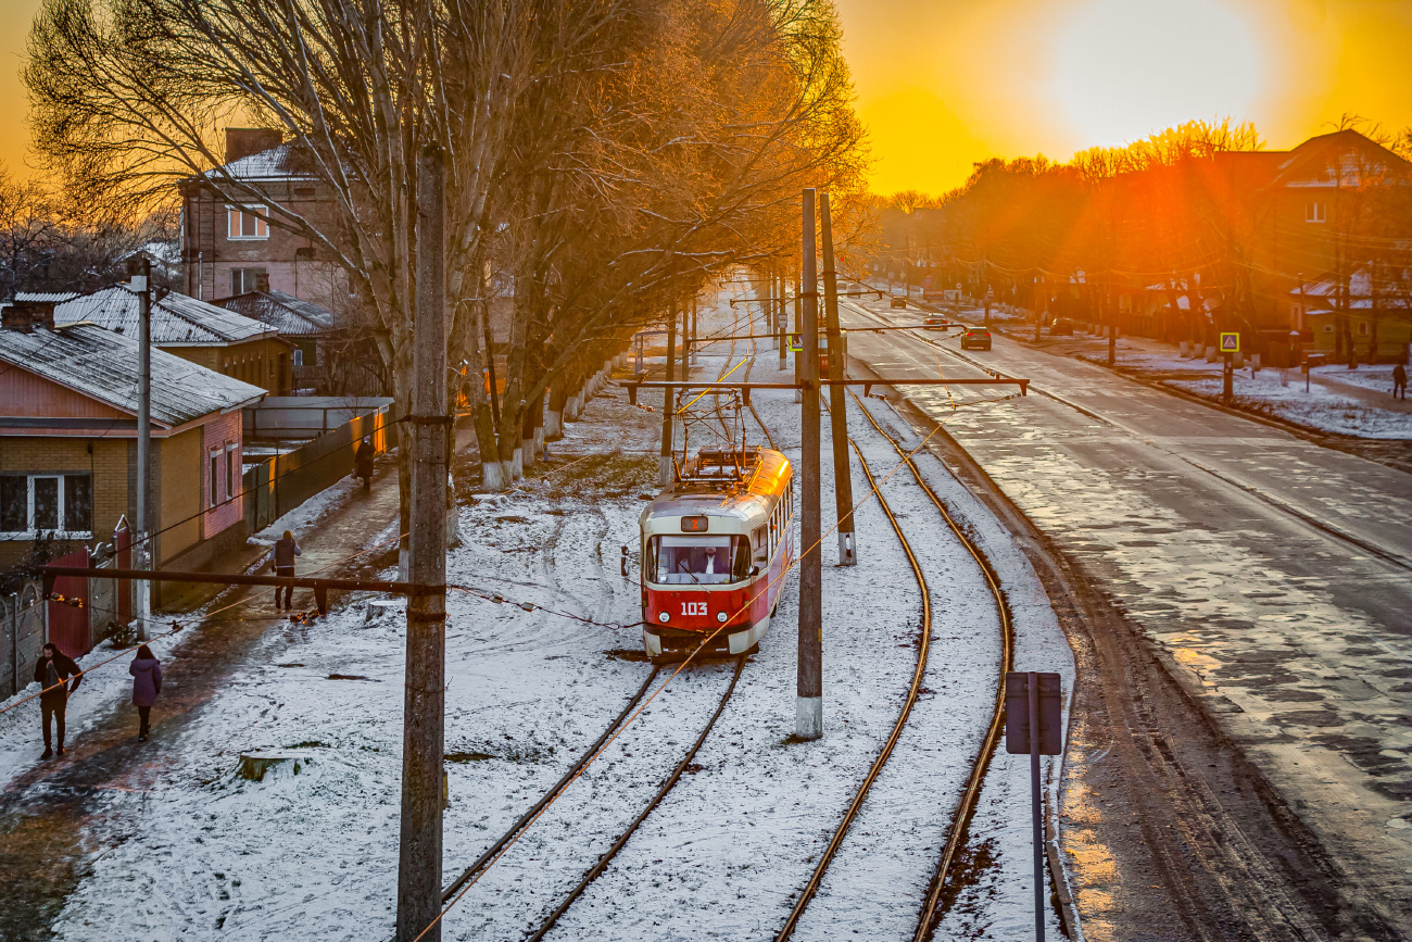
[[364, 435], [373, 439], [378, 455], [397, 446], [397, 427], [387, 405], [247, 470], [243, 490], [250, 532], [264, 530], [309, 497], [347, 477]]

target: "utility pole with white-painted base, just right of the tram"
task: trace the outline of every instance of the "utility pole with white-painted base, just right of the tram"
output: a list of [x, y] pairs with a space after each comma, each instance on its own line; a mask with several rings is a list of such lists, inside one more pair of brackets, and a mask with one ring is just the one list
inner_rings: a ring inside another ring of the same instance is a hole
[[799, 542], [799, 665], [795, 676], [795, 736], [823, 736], [823, 571], [819, 552], [819, 284], [813, 260], [813, 188], [803, 191], [803, 284], [802, 298], [803, 384], [801, 405], [802, 451], [799, 455], [799, 507], [803, 511]]

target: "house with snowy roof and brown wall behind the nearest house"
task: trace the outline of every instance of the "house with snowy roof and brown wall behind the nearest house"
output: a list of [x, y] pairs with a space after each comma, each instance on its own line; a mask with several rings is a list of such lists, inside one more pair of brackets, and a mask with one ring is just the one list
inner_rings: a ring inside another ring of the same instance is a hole
[[[17, 295], [17, 301], [42, 304], [31, 295]], [[140, 298], [126, 282], [48, 304], [55, 323], [88, 322], [137, 339]], [[215, 373], [273, 395], [291, 391], [295, 346], [260, 321], [172, 291], [152, 301], [151, 336], [152, 346]]]

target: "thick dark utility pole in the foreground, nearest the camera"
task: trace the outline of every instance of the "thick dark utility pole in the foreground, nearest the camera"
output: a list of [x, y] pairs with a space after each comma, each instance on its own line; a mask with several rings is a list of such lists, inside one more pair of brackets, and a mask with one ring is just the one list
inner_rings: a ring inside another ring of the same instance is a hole
[[[446, 171], [422, 150], [417, 181], [417, 321], [412, 326], [411, 545], [407, 696], [402, 710], [402, 835], [397, 939], [441, 941], [442, 768], [446, 725]], [[428, 926], [432, 926], [428, 929]]]

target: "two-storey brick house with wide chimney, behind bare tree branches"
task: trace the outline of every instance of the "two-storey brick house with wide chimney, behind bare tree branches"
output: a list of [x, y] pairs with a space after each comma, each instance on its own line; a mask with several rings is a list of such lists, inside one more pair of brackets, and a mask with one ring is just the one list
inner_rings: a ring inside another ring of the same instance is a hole
[[[232, 206], [212, 185], [217, 171], [181, 184], [181, 264], [186, 294], [219, 301], [277, 290], [343, 311], [347, 280], [313, 243], [261, 217], [263, 205]], [[220, 172], [305, 217], [318, 217], [323, 185], [273, 129], [227, 127]], [[249, 212], [253, 210], [253, 212]]]

